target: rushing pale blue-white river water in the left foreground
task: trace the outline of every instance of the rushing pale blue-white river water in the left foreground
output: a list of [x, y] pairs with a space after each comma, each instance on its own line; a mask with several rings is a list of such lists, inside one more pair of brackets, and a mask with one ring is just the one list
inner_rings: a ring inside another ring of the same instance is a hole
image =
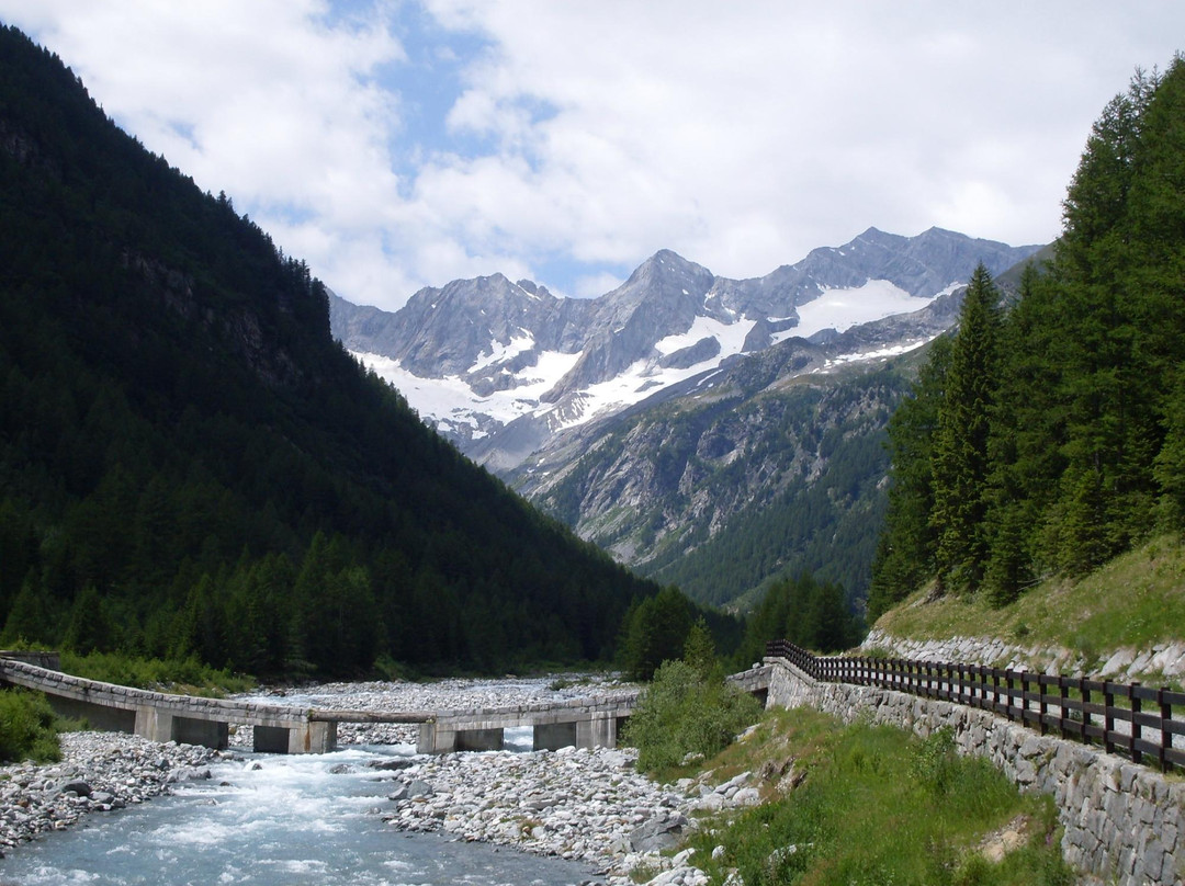
[[[504, 687], [498, 687], [502, 689]], [[303, 699], [301, 699], [303, 700]], [[514, 753], [530, 743], [508, 734]], [[587, 865], [403, 833], [383, 821], [392, 772], [371, 764], [415, 756], [410, 744], [350, 745], [327, 755], [243, 752], [172, 796], [94, 813], [0, 861], [0, 886], [427, 886], [596, 881]]]

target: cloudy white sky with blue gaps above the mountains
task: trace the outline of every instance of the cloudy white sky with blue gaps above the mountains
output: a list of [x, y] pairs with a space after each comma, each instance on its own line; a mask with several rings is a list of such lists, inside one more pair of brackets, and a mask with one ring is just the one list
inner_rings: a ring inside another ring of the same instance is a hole
[[346, 298], [659, 249], [752, 277], [869, 226], [1044, 243], [1176, 0], [0, 0]]

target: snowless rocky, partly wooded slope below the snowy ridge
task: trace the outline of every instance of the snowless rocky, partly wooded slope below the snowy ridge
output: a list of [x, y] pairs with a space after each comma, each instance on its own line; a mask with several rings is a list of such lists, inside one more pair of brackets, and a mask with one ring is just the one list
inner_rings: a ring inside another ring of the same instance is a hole
[[885, 425], [909, 368], [826, 364], [824, 347], [787, 341], [557, 435], [507, 479], [619, 560], [705, 602], [728, 604], [787, 569], [860, 596]]

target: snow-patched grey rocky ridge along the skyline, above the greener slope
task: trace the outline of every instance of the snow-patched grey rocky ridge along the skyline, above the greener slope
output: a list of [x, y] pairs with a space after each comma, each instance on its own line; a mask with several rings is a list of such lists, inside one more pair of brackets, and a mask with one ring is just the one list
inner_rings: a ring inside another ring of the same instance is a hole
[[880, 326], [950, 293], [979, 262], [993, 272], [1036, 248], [930, 229], [869, 229], [764, 277], [730, 280], [670, 250], [598, 298], [557, 297], [502, 275], [416, 293], [395, 313], [331, 298], [334, 334], [462, 451], [505, 473], [557, 434], [790, 339], [826, 361], [916, 346], [916, 326]]

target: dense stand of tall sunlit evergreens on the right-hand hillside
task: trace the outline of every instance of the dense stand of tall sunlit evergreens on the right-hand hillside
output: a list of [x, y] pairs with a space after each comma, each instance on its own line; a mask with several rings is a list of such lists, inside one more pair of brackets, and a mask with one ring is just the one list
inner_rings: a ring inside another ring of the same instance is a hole
[[1055, 258], [982, 269], [890, 423], [876, 616], [928, 580], [1007, 603], [1185, 529], [1185, 62], [1091, 130]]

